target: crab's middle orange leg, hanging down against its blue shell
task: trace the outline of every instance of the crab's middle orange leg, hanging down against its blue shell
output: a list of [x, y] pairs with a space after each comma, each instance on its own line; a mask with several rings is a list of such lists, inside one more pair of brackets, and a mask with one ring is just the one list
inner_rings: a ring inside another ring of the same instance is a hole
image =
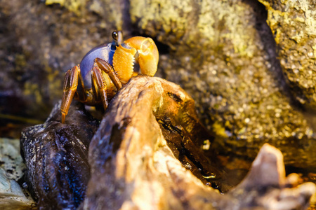
[[94, 66], [91, 71], [91, 80], [93, 93], [96, 97], [96, 100], [101, 100], [104, 110], [107, 109], [109, 101], [107, 99], [107, 85], [105, 79], [102, 76], [102, 72], [98, 69], [97, 66]]

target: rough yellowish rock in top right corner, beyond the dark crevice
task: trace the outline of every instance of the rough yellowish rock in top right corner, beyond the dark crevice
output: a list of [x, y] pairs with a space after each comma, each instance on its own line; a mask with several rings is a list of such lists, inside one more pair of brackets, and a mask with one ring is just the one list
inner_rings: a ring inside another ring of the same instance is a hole
[[260, 0], [294, 97], [316, 110], [316, 2]]

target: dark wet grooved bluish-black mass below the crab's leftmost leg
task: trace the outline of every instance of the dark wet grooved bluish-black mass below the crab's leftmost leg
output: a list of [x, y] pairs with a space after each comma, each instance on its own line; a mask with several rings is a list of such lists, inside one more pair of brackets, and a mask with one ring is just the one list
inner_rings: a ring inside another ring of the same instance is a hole
[[98, 128], [82, 104], [61, 124], [60, 103], [44, 124], [27, 127], [20, 139], [27, 186], [39, 209], [77, 209], [89, 179], [88, 146]]

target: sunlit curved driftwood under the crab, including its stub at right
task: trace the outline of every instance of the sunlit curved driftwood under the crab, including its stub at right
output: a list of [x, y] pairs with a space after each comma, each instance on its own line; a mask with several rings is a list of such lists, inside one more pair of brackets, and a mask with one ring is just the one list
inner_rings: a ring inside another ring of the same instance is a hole
[[[176, 159], [181, 148], [196, 155], [199, 149], [191, 145], [190, 138], [201, 138], [202, 131], [192, 99], [178, 85], [160, 78], [133, 78], [114, 99], [91, 141], [91, 179], [81, 209], [265, 208], [262, 200], [282, 195], [281, 189], [293, 193], [287, 198], [300, 204], [296, 208], [305, 207], [314, 185], [299, 190], [284, 186], [282, 154], [268, 145], [258, 155], [248, 178], [232, 193], [220, 195], [203, 185]], [[182, 141], [177, 135], [183, 137]], [[195, 164], [190, 155], [187, 159], [192, 164], [188, 162], [188, 168], [197, 167], [199, 161]], [[197, 155], [199, 158], [202, 155]], [[265, 174], [260, 175], [263, 171]], [[262, 185], [258, 185], [260, 181]], [[270, 195], [270, 189], [279, 191]], [[284, 202], [283, 197], [279, 201]], [[276, 200], [275, 205], [267, 207], [278, 209], [278, 204]], [[292, 207], [289, 205], [289, 209]]]

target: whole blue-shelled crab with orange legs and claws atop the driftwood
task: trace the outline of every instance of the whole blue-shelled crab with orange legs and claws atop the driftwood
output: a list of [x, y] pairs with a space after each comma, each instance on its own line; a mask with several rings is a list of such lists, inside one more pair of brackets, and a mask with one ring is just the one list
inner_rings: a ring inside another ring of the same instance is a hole
[[60, 106], [62, 123], [73, 98], [88, 106], [103, 104], [107, 109], [117, 91], [138, 74], [133, 71], [134, 62], [138, 62], [140, 73], [156, 73], [159, 52], [152, 38], [135, 36], [123, 42], [121, 31], [114, 31], [112, 37], [112, 43], [93, 48], [79, 65], [65, 73]]

